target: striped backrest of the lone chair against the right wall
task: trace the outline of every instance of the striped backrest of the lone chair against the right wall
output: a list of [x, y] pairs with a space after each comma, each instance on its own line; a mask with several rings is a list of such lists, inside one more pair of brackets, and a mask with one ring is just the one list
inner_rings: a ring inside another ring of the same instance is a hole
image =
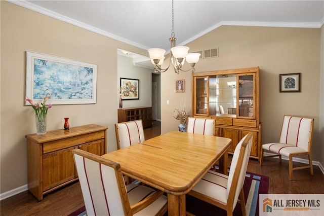
[[314, 119], [312, 118], [285, 115], [279, 142], [294, 145], [309, 152], [311, 150], [313, 124]]

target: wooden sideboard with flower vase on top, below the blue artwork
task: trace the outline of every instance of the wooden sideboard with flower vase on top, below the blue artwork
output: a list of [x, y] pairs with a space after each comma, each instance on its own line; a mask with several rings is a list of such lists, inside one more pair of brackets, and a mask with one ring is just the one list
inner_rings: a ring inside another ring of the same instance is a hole
[[48, 131], [44, 135], [26, 135], [28, 190], [42, 200], [43, 195], [76, 181], [72, 150], [106, 154], [107, 129], [91, 124]]

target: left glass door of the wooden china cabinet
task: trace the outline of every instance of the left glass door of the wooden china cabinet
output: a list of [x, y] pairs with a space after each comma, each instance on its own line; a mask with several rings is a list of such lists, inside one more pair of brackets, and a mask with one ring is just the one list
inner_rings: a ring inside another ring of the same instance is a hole
[[195, 77], [194, 115], [209, 115], [208, 112], [208, 77]]

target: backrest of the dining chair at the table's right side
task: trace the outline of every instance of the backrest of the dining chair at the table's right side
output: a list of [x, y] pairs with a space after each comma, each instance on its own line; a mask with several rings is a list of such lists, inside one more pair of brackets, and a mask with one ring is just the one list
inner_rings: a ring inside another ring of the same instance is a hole
[[236, 206], [239, 193], [245, 181], [252, 147], [252, 133], [245, 135], [237, 144], [229, 168], [227, 181], [227, 204]]

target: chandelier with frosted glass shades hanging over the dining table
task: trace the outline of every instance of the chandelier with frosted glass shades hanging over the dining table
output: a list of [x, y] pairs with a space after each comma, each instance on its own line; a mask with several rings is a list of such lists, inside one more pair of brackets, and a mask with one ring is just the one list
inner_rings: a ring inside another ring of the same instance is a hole
[[[170, 62], [167, 68], [163, 69], [161, 68], [161, 65], [164, 62], [165, 59], [165, 52], [164, 49], [159, 48], [151, 48], [148, 49], [148, 53], [150, 55], [150, 59], [152, 64], [154, 64], [154, 72], [155, 73], [163, 73], [167, 71], [171, 65], [173, 64], [173, 68], [175, 73], [179, 74], [181, 71], [195, 71], [194, 65], [198, 62], [200, 53], [188, 53], [189, 47], [184, 46], [177, 46], [176, 47], [176, 38], [174, 35], [174, 14], [173, 14], [173, 0], [172, 0], [172, 30], [171, 30], [171, 38], [169, 38], [169, 41], [171, 42], [171, 56], [170, 56]], [[187, 61], [190, 64], [190, 68], [187, 70], [182, 69], [182, 65], [184, 64], [184, 61]]]

